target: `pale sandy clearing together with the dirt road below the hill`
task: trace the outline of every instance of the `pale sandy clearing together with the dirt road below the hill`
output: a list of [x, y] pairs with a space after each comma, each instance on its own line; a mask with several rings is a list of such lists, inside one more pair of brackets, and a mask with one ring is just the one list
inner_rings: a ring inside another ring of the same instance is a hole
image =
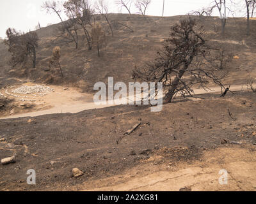
[[[35, 96], [35, 94], [16, 94], [20, 97], [13, 97], [10, 94], [13, 89], [20, 87], [21, 85], [35, 85], [33, 83], [20, 84], [16, 86], [11, 86], [7, 89], [0, 90], [1, 94], [8, 97], [9, 99], [15, 99], [17, 102], [16, 108], [13, 108], [14, 112], [12, 114], [2, 114], [0, 119], [13, 119], [19, 117], [36, 117], [39, 115], [49, 115], [54, 113], [78, 113], [83, 110], [90, 110], [95, 108], [106, 108], [109, 106], [115, 106], [115, 101], [113, 105], [96, 105], [93, 103], [93, 94], [86, 94], [79, 91], [79, 89], [72, 87], [61, 87], [56, 85], [51, 85], [51, 89], [54, 89], [53, 92], [45, 93], [45, 96]], [[232, 85], [230, 87], [231, 91], [247, 91], [246, 85]], [[209, 89], [195, 89], [195, 94], [216, 94], [221, 93], [220, 87], [209, 87]], [[25, 99], [32, 105], [32, 108], [24, 110], [20, 108], [21, 103], [28, 102], [19, 102], [21, 99]], [[135, 96], [134, 101], [140, 98], [139, 95]], [[125, 98], [127, 100], [127, 98]], [[26, 112], [26, 113], [24, 113]]]

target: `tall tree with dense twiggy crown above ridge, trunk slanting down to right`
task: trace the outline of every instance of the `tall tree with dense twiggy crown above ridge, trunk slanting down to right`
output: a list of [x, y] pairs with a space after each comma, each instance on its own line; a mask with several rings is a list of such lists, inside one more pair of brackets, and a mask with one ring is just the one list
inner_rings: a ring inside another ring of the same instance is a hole
[[68, 0], [63, 7], [67, 17], [81, 26], [88, 43], [88, 50], [92, 50], [92, 38], [88, 26], [92, 27], [93, 10], [88, 0]]

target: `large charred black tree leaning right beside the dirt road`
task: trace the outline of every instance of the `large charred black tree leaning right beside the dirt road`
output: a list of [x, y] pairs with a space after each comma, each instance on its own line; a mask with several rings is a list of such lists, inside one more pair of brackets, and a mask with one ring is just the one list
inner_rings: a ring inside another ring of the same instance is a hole
[[[221, 64], [218, 52], [217, 48], [206, 45], [205, 31], [196, 26], [195, 19], [181, 20], [180, 24], [171, 27], [170, 38], [163, 51], [157, 52], [155, 61], [147, 62], [144, 69], [135, 68], [132, 77], [144, 82], [163, 83], [164, 99], [168, 103], [177, 94], [184, 98], [195, 97], [193, 87], [208, 89], [209, 80], [223, 87], [221, 79], [225, 77], [225, 71], [221, 66], [226, 63]], [[227, 61], [229, 59], [227, 57]]]

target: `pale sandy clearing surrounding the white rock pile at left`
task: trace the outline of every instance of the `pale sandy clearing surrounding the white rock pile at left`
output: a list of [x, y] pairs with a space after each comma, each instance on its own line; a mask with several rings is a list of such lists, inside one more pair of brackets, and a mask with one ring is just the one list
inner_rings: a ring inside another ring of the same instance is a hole
[[[38, 115], [47, 115], [52, 113], [80, 112], [86, 108], [80, 107], [83, 104], [90, 106], [92, 103], [92, 94], [86, 94], [74, 87], [61, 87], [58, 85], [50, 85], [52, 92], [40, 94], [13, 94], [13, 89], [17, 89], [22, 85], [36, 85], [34, 83], [24, 83], [1, 89], [0, 93], [6, 98], [13, 101], [13, 107], [3, 112], [0, 118], [15, 117], [35, 117]], [[22, 104], [29, 104], [30, 107], [22, 107]], [[93, 107], [92, 107], [93, 108]], [[91, 108], [90, 108], [91, 109]], [[11, 112], [13, 110], [13, 112]], [[73, 110], [73, 111], [72, 111]]]

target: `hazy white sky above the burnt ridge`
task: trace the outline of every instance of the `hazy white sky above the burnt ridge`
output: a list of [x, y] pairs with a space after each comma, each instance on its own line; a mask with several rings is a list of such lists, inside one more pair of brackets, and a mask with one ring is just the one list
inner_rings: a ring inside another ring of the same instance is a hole
[[[92, 0], [94, 1], [94, 0]], [[116, 7], [115, 0], [106, 0], [109, 4], [109, 13], [121, 13]], [[0, 37], [5, 37], [8, 27], [27, 32], [34, 30], [40, 22], [41, 27], [55, 24], [59, 19], [54, 13], [47, 14], [41, 6], [45, 0], [1, 0], [0, 7]], [[191, 10], [208, 6], [212, 0], [165, 0], [164, 16], [185, 15]], [[147, 15], [162, 15], [163, 0], [152, 0]], [[122, 13], [127, 13], [122, 9]], [[132, 13], [136, 10], [132, 8]], [[216, 13], [218, 15], [218, 13]]]

